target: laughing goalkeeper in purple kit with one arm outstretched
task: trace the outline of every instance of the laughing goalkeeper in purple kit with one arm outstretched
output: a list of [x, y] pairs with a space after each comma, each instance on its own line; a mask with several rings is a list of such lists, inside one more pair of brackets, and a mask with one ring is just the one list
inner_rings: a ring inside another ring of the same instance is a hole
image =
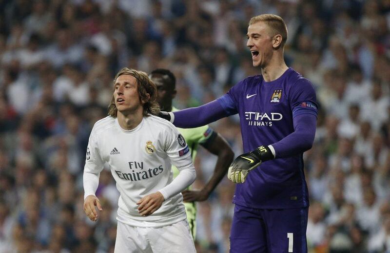
[[309, 196], [302, 156], [314, 141], [315, 91], [284, 62], [287, 26], [282, 18], [253, 17], [247, 38], [259, 75], [235, 84], [213, 102], [167, 113], [166, 118], [178, 127], [195, 127], [238, 113], [246, 153], [228, 172], [238, 183], [231, 252], [306, 253]]

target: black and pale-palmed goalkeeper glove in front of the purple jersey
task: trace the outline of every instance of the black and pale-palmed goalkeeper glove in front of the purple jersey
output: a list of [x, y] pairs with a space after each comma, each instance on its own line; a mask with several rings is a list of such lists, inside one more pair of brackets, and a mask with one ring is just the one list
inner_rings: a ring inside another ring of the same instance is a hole
[[233, 183], [244, 183], [249, 171], [259, 166], [261, 162], [273, 158], [273, 153], [268, 146], [260, 146], [251, 152], [239, 155], [229, 167], [228, 178]]

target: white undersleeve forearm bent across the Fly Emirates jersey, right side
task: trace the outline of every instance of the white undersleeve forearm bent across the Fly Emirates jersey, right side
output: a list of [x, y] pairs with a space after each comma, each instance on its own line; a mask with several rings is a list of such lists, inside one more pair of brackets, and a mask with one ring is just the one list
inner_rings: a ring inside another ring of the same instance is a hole
[[176, 178], [166, 187], [159, 190], [161, 194], [164, 196], [164, 199], [167, 200], [179, 192], [183, 191], [187, 187], [189, 187], [192, 183], [194, 183], [196, 178], [196, 172], [195, 167], [191, 161], [186, 166], [177, 167], [179, 169], [179, 174], [176, 176]]

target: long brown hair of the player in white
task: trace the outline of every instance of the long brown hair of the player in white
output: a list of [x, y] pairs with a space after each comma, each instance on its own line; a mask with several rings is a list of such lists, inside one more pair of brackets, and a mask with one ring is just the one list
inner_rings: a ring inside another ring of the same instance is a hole
[[[113, 90], [115, 90], [114, 85], [117, 82], [117, 78], [121, 75], [131, 75], [137, 79], [137, 91], [138, 91], [139, 101], [146, 101], [142, 105], [143, 115], [144, 116], [148, 116], [149, 114], [157, 115], [160, 112], [160, 106], [156, 101], [157, 88], [156, 88], [156, 84], [153, 83], [153, 81], [148, 77], [148, 75], [143, 71], [124, 67], [121, 70], [119, 70], [119, 72], [114, 78]], [[149, 94], [149, 99], [147, 94]], [[113, 94], [110, 105], [108, 105], [108, 115], [116, 118], [117, 112], [118, 109], [117, 106], [115, 105], [115, 99]]]

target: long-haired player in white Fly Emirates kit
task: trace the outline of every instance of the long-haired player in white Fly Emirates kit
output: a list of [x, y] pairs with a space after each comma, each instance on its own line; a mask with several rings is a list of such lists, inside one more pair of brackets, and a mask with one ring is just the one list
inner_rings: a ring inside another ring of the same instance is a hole
[[[183, 136], [158, 112], [156, 85], [146, 73], [123, 68], [109, 116], [89, 137], [84, 211], [92, 221], [103, 211], [95, 192], [108, 163], [120, 193], [116, 253], [195, 252], [180, 193], [194, 182], [195, 168]], [[180, 171], [175, 179], [171, 164]]]

